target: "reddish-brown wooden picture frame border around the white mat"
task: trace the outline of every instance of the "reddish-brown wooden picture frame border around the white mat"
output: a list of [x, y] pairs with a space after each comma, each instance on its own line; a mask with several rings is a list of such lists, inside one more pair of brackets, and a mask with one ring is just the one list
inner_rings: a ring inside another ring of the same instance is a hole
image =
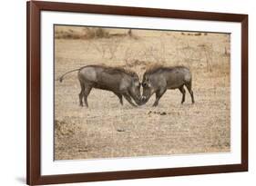
[[[241, 164], [153, 169], [138, 171], [108, 171], [42, 176], [40, 172], [40, 12], [61, 11], [102, 15], [165, 17], [191, 20], [241, 23]], [[248, 171], [248, 15], [194, 12], [181, 10], [83, 5], [53, 2], [27, 2], [26, 5], [26, 182], [30, 185], [80, 181], [110, 181], [165, 176], [180, 176], [220, 172]]]

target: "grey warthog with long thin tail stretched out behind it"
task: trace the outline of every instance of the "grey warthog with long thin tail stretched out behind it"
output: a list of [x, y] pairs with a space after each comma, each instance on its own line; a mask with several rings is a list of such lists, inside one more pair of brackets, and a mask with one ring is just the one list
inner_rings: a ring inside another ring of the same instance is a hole
[[[141, 104], [140, 83], [138, 74], [132, 71], [124, 70], [118, 67], [107, 67], [102, 65], [87, 65], [79, 69], [69, 71], [72, 73], [78, 71], [78, 80], [81, 85], [79, 93], [79, 103], [83, 106], [83, 98], [85, 105], [88, 107], [87, 96], [92, 88], [111, 91], [118, 96], [119, 103], [123, 104], [123, 96], [128, 103], [137, 106], [132, 99]], [[62, 82], [64, 73], [59, 81]]]

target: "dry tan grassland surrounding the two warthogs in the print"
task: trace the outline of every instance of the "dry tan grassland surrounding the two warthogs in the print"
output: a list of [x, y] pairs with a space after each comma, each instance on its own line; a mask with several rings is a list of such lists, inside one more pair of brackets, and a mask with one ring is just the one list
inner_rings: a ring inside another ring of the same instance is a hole
[[55, 160], [230, 152], [230, 34], [55, 26], [55, 79], [88, 64], [184, 65], [195, 96], [168, 90], [158, 107], [121, 106], [93, 89], [80, 107], [77, 72], [55, 81]]

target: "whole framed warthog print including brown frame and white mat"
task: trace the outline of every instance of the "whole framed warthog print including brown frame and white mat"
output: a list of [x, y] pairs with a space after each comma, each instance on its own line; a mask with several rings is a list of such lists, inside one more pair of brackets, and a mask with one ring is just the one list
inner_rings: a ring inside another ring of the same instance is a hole
[[248, 15], [27, 2], [27, 184], [248, 170]]

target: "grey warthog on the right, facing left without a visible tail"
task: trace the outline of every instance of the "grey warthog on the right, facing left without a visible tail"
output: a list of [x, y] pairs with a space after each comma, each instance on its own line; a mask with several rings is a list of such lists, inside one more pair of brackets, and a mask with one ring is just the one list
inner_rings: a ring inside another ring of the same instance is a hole
[[194, 95], [192, 91], [192, 76], [187, 67], [175, 66], [175, 67], [163, 67], [155, 66], [148, 69], [143, 74], [142, 87], [142, 103], [147, 103], [148, 99], [153, 93], [156, 93], [156, 101], [153, 106], [159, 104], [159, 99], [167, 91], [167, 89], [179, 89], [182, 93], [181, 103], [185, 102], [186, 91], [184, 85], [187, 87], [192, 103], [194, 101]]

